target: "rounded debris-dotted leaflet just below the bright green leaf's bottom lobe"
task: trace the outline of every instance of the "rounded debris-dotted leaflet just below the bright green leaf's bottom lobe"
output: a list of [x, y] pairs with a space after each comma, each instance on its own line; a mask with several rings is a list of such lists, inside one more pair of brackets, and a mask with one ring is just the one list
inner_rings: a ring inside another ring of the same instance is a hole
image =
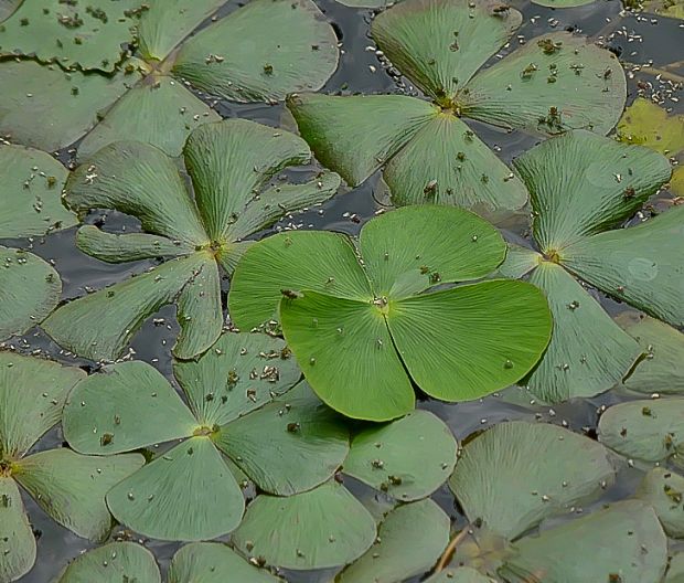
[[443, 422], [418, 410], [354, 435], [343, 469], [397, 500], [417, 500], [453, 471], [457, 447]]

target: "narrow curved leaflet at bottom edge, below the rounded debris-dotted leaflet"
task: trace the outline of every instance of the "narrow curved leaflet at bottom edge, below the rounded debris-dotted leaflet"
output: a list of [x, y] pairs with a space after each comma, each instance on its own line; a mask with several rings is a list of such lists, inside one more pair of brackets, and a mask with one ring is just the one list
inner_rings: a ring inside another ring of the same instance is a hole
[[373, 547], [342, 572], [340, 583], [396, 583], [423, 574], [447, 547], [449, 523], [430, 499], [398, 506], [381, 523]]

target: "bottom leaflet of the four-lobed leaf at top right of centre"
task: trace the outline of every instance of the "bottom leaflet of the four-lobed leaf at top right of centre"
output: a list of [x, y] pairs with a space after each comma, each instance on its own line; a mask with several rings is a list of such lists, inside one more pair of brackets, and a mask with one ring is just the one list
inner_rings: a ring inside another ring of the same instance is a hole
[[524, 206], [527, 189], [457, 116], [435, 117], [387, 163], [397, 205], [439, 203], [495, 214]]

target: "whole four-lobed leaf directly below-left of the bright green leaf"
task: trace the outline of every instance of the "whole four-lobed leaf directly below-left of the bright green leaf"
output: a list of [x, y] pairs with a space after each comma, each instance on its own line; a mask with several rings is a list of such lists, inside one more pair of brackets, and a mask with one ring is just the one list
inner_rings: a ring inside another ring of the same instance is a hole
[[288, 392], [300, 372], [282, 340], [227, 332], [177, 373], [190, 410], [159, 372], [137, 361], [83, 381], [65, 406], [64, 435], [78, 452], [184, 439], [108, 494], [115, 517], [137, 532], [203, 540], [237, 527], [243, 495], [222, 452], [277, 495], [313, 488], [346, 456], [348, 431], [332, 412], [306, 384]]

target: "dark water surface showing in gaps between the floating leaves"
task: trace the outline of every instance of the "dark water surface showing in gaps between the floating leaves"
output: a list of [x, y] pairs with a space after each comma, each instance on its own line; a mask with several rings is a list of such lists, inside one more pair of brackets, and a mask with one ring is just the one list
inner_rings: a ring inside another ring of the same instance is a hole
[[[417, 94], [409, 82], [393, 78], [376, 55], [375, 45], [368, 34], [372, 11], [350, 9], [334, 0], [317, 0], [317, 2], [333, 23], [343, 51], [340, 67], [323, 91]], [[225, 10], [231, 11], [236, 6], [237, 3], [231, 3]], [[591, 36], [619, 54], [629, 78], [628, 104], [638, 95], [654, 96], [666, 108], [673, 108], [675, 112], [684, 110], [684, 92], [682, 92], [681, 83], [677, 88], [672, 81], [659, 77], [658, 72], [653, 68], [678, 62], [680, 65], [671, 67], [671, 71], [680, 78], [684, 75], [684, 66], [681, 64], [684, 60], [684, 24], [680, 21], [649, 14], [641, 17], [627, 14], [621, 11], [621, 4], [617, 0], [598, 0], [585, 7], [560, 10], [521, 1], [513, 1], [512, 6], [521, 10], [524, 15], [523, 26], [519, 31], [520, 38], [531, 39], [552, 30], [574, 30]], [[514, 36], [510, 47], [504, 49], [502, 53], [515, 49], [519, 42], [519, 38]], [[644, 67], [644, 64], [651, 64], [652, 67]], [[292, 118], [282, 105], [237, 105], [221, 102], [216, 104], [215, 108], [224, 117], [244, 117], [271, 126], [281, 126], [286, 129], [296, 128]], [[510, 162], [512, 158], [531, 148], [538, 140], [538, 138], [522, 132], [506, 134], [503, 130], [470, 120], [468, 124], [477, 126], [478, 136], [494, 147], [505, 162]], [[68, 153], [62, 152], [61, 157], [63, 160], [67, 160]], [[293, 180], [298, 180], [303, 179], [314, 169], [316, 167], [311, 166], [290, 170], [288, 173]], [[355, 234], [366, 220], [386, 205], [386, 189], [377, 174], [356, 189], [345, 190], [314, 211], [281, 221], [276, 229], [297, 226]], [[665, 200], [669, 198], [667, 193], [660, 194], [656, 197], [654, 205], [656, 208], [664, 206]], [[108, 231], [120, 232], [125, 229], [130, 232], [138, 229], [136, 221], [114, 212], [93, 213], [89, 220], [96, 221], [101, 218], [105, 218], [105, 229]], [[517, 243], [525, 243], [526, 229], [526, 216], [524, 215], [504, 224], [506, 236]], [[133, 273], [143, 272], [154, 263], [152, 261], [121, 265], [101, 263], [79, 252], [74, 244], [74, 235], [75, 229], [72, 229], [45, 239], [12, 242], [15, 246], [31, 248], [46, 259], [54, 259], [63, 279], [64, 299], [84, 295], [86, 288], [88, 290], [99, 289], [124, 280]], [[227, 283], [225, 290], [227, 290]], [[605, 297], [600, 299], [606, 309], [613, 315], [624, 309], [613, 300]], [[164, 318], [164, 324], [159, 324], [159, 321], [153, 324], [152, 318], [150, 318], [142, 330], [136, 335], [132, 342], [135, 358], [153, 363], [169, 379], [171, 379], [170, 350], [178, 333], [174, 311], [173, 307], [160, 310], [153, 318]], [[97, 316], [94, 317], [93, 325], [97, 326]], [[83, 365], [86, 369], [94, 365], [86, 360], [74, 359], [65, 354], [40, 329], [32, 330], [25, 337], [8, 341], [7, 344], [14, 347], [19, 352], [46, 353], [61, 362]], [[594, 430], [600, 407], [626, 399], [630, 398], [610, 391], [598, 398], [575, 400], [549, 409], [531, 404], [528, 398], [521, 394], [521, 390], [512, 388], [499, 395], [489, 396], [481, 401], [445, 404], [428, 399], [420, 401], [418, 406], [429, 410], [442, 418], [459, 439], [473, 431], [482, 430], [503, 420], [534, 420], [535, 417], [558, 424], [563, 423], [576, 432], [595, 435]], [[41, 439], [36, 451], [58, 446], [61, 443], [60, 431], [53, 430]], [[629, 496], [639, 484], [642, 474], [639, 468], [626, 468], [618, 476], [616, 486], [608, 489], [605, 497], [595, 502], [592, 507], [598, 507], [608, 500]], [[362, 499], [370, 499], [374, 496], [367, 488], [354, 483], [351, 478], [345, 478], [345, 484]], [[460, 528], [464, 519], [455, 507], [453, 497], [447, 486], [438, 490], [434, 498], [452, 517], [455, 527]], [[30, 574], [20, 581], [21, 583], [52, 582], [73, 558], [94, 544], [56, 524], [29, 497], [24, 497], [24, 504], [39, 533], [39, 551], [35, 566]], [[546, 521], [545, 528], [557, 523], [559, 520], [567, 520], [567, 517]], [[117, 536], [138, 540], [135, 533], [125, 532], [121, 528], [115, 529], [113, 537]], [[225, 539], [227, 540], [228, 537]], [[154, 552], [164, 571], [171, 555], [180, 547], [178, 543], [160, 541], [145, 540], [142, 542]], [[286, 573], [289, 581], [298, 583], [329, 582], [333, 575], [334, 573], [330, 571]], [[421, 579], [415, 577], [410, 581], [417, 582]]]

